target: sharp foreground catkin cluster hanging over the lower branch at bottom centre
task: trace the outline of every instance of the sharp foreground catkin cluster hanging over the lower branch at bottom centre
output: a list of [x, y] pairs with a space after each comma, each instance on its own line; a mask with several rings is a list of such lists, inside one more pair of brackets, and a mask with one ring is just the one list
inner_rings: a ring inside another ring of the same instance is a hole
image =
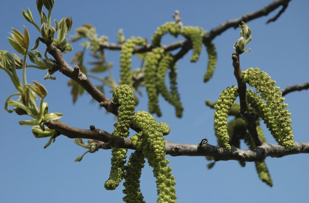
[[135, 111], [134, 93], [128, 85], [120, 85], [115, 88], [113, 102], [118, 104], [118, 123], [115, 124], [113, 136], [125, 138], [129, 136], [129, 126], [132, 124], [141, 131], [130, 139], [136, 151], [131, 154], [128, 164], [126, 162], [126, 149], [113, 148], [112, 167], [109, 179], [104, 187], [116, 189], [124, 178], [125, 189], [123, 198], [125, 202], [144, 202], [140, 191], [139, 178], [146, 158], [153, 167], [154, 176], [157, 178], [158, 202], [176, 202], [174, 176], [171, 167], [167, 167], [168, 159], [165, 157], [165, 141], [163, 135], [170, 132], [166, 123], [157, 123], [153, 116], [147, 112]]

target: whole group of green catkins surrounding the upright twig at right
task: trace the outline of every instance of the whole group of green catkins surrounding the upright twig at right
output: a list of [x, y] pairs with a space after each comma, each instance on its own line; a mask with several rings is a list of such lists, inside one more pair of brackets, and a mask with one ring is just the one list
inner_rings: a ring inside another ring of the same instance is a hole
[[[283, 103], [284, 98], [281, 92], [277, 92], [279, 87], [274, 86], [276, 82], [271, 80], [267, 73], [260, 71], [258, 68], [249, 68], [243, 71], [241, 78], [243, 82], [256, 88], [256, 92], [251, 89], [247, 90], [247, 101], [250, 105], [248, 106], [248, 111], [258, 113], [278, 144], [287, 150], [294, 148], [292, 126], [289, 125], [292, 122], [290, 119], [291, 113], [286, 109], [287, 104]], [[257, 95], [257, 93], [260, 93], [260, 95]], [[218, 137], [218, 144], [227, 150], [231, 150], [231, 145], [239, 148], [239, 140], [243, 139], [250, 149], [254, 149], [256, 146], [247, 132], [246, 123], [240, 118], [240, 105], [234, 103], [236, 96], [237, 87], [232, 87], [223, 90], [216, 103], [206, 100], [207, 106], [216, 109], [214, 113], [214, 126]], [[235, 116], [236, 118], [227, 123], [228, 116]], [[266, 142], [259, 119], [256, 122], [257, 133], [260, 139]], [[240, 164], [242, 166], [245, 165], [244, 162], [240, 162]], [[272, 186], [273, 182], [265, 161], [256, 161], [255, 164], [260, 179], [269, 186]]]

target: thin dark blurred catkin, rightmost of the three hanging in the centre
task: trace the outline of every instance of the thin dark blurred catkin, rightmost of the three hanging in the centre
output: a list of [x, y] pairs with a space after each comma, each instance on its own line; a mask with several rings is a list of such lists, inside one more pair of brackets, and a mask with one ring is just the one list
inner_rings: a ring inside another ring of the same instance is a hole
[[184, 108], [182, 107], [182, 104], [180, 102], [180, 96], [177, 90], [177, 66], [176, 64], [174, 64], [174, 66], [171, 66], [170, 68], [171, 71], [168, 75], [170, 78], [171, 95], [175, 104], [176, 116], [181, 118]]

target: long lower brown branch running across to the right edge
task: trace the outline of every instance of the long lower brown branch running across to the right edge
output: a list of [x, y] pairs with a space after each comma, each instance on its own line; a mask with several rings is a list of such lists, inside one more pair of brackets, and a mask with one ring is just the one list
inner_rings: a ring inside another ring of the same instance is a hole
[[[130, 139], [120, 139], [113, 137], [110, 133], [96, 129], [92, 126], [92, 130], [74, 128], [72, 126], [61, 123], [58, 120], [48, 120], [44, 123], [50, 129], [57, 130], [62, 135], [69, 138], [85, 138], [93, 139], [93, 142], [99, 144], [99, 148], [108, 149], [111, 146], [116, 148], [135, 149], [131, 145]], [[309, 153], [309, 143], [295, 142], [295, 148], [287, 151], [280, 145], [264, 143], [254, 150], [239, 149], [232, 147], [231, 151], [224, 148], [213, 146], [210, 144], [181, 144], [166, 141], [166, 154], [171, 156], [211, 156], [215, 161], [219, 160], [243, 160], [257, 161], [263, 160], [267, 156], [282, 157], [291, 154]]]

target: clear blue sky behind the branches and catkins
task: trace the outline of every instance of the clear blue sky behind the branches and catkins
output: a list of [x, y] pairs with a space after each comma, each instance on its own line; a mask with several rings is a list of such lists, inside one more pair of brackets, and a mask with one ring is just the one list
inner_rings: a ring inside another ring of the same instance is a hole
[[[260, 9], [271, 1], [60, 1], [56, 0], [52, 19], [72, 16], [74, 30], [83, 23], [91, 23], [99, 35], [106, 35], [109, 41], [116, 42], [119, 28], [124, 29], [126, 38], [142, 36], [150, 39], [156, 27], [167, 21], [173, 21], [172, 14], [180, 10], [185, 26], [200, 26], [210, 30], [227, 19]], [[6, 37], [11, 27], [22, 30], [27, 26], [31, 44], [38, 37], [37, 30], [25, 21], [21, 9], [29, 7], [39, 22], [35, 1], [0, 2], [0, 44], [1, 50], [13, 52]], [[258, 18], [248, 25], [252, 29], [253, 40], [248, 44], [249, 54], [241, 55], [243, 70], [259, 67], [269, 73], [281, 88], [289, 84], [308, 82], [308, 1], [291, 1], [282, 16], [274, 23], [265, 24], [269, 17]], [[307, 20], [306, 20], [307, 19]], [[174, 142], [197, 144], [204, 137], [210, 144], [216, 145], [214, 136], [214, 110], [205, 106], [205, 99], [215, 101], [227, 86], [236, 84], [233, 75], [231, 53], [233, 44], [239, 38], [239, 29], [229, 29], [216, 37], [214, 43], [218, 51], [218, 64], [214, 77], [203, 83], [206, 71], [207, 55], [205, 48], [197, 63], [190, 63], [190, 51], [180, 59], [178, 82], [181, 101], [184, 106], [183, 118], [175, 116], [174, 108], [160, 99], [163, 116], [157, 121], [167, 122], [171, 133], [165, 138]], [[163, 43], [181, 39], [164, 37]], [[78, 43], [73, 44], [73, 51], [65, 54], [69, 62], [76, 51], [81, 50]], [[44, 53], [41, 44], [39, 50]], [[91, 58], [87, 52], [86, 62]], [[108, 61], [114, 63], [113, 73], [119, 79], [119, 51], [107, 51]], [[87, 63], [86, 63], [87, 64]], [[133, 67], [140, 61], [133, 58]], [[71, 64], [72, 66], [74, 64]], [[88, 68], [91, 65], [87, 64]], [[107, 115], [97, 103], [91, 103], [88, 94], [72, 104], [72, 97], [67, 86], [68, 78], [59, 72], [54, 75], [56, 81], [43, 80], [45, 71], [28, 69], [28, 81], [43, 83], [49, 91], [46, 102], [50, 112], [64, 114], [61, 121], [79, 128], [96, 128], [113, 131], [112, 115]], [[19, 71], [20, 73], [21, 71]], [[100, 75], [102, 76], [102, 75]], [[96, 82], [95, 82], [96, 83]], [[0, 71], [0, 104], [4, 105], [7, 96], [15, 93], [9, 77]], [[108, 92], [108, 90], [106, 89]], [[147, 97], [140, 99], [137, 110], [147, 110]], [[286, 96], [288, 109], [292, 113], [294, 139], [309, 142], [308, 136], [308, 99], [309, 92], [293, 92]], [[111, 96], [108, 94], [108, 96]], [[56, 142], [44, 149], [48, 138], [36, 139], [30, 126], [20, 126], [19, 120], [27, 116], [8, 114], [0, 111], [0, 194], [1, 202], [121, 202], [124, 194], [122, 184], [115, 191], [104, 189], [110, 170], [111, 152], [99, 150], [87, 154], [81, 162], [74, 162], [85, 149], [74, 144], [73, 140], [60, 136]], [[265, 129], [265, 126], [263, 125]], [[267, 140], [275, 143], [265, 129]], [[246, 148], [244, 144], [243, 148]], [[176, 176], [176, 194], [178, 202], [306, 202], [308, 201], [309, 161], [307, 154], [266, 159], [274, 186], [270, 188], [261, 182], [255, 171], [254, 163], [248, 162], [245, 168], [237, 161], [217, 162], [211, 170], [206, 168], [209, 162], [204, 157], [171, 157], [170, 166]], [[155, 178], [152, 169], [147, 166], [142, 171], [142, 193], [146, 202], [157, 199]]]

